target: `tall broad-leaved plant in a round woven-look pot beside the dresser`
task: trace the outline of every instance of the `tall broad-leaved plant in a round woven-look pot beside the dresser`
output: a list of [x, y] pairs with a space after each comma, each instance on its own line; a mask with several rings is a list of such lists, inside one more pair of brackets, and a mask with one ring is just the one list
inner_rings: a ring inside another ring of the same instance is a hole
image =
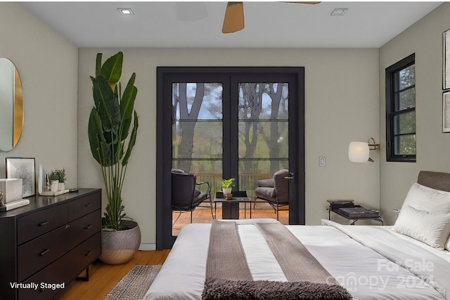
[[96, 76], [91, 77], [94, 107], [89, 116], [88, 136], [92, 156], [101, 165], [108, 199], [102, 218], [100, 259], [116, 264], [132, 259], [141, 244], [139, 226], [127, 217], [122, 204], [122, 186], [139, 126], [134, 110], [138, 90], [133, 73], [122, 92], [122, 52], [105, 60], [103, 65], [101, 58], [102, 53], [97, 53]]

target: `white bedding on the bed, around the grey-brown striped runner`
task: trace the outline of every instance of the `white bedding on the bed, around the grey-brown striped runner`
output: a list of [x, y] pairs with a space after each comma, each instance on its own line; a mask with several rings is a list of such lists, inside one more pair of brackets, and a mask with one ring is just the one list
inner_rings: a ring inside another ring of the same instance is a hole
[[[252, 225], [257, 219], [238, 221], [238, 230], [248, 265], [254, 280], [279, 280], [286, 278], [259, 230]], [[271, 222], [271, 219], [264, 219]], [[172, 251], [162, 266], [160, 273], [148, 289], [144, 299], [201, 299], [207, 249], [211, 224], [188, 224], [181, 229]], [[387, 260], [363, 244], [342, 233], [333, 226], [286, 226], [312, 255], [352, 294], [354, 299], [446, 299], [446, 291], [440, 293], [413, 273]], [[362, 228], [373, 226], [347, 226]], [[377, 226], [381, 227], [381, 226]], [[385, 228], [389, 232], [389, 228]], [[379, 230], [384, 231], [384, 230]], [[364, 233], [363, 233], [364, 235]], [[383, 233], [380, 233], [383, 235]], [[398, 234], [397, 234], [398, 235]], [[394, 235], [394, 236], [397, 236]], [[398, 244], [411, 243], [398, 235]], [[371, 237], [374, 240], [378, 237]], [[414, 244], [416, 242], [412, 242]], [[395, 243], [394, 246], [397, 246]], [[450, 252], [439, 251], [420, 243], [420, 247], [430, 252], [430, 258], [423, 257], [411, 263], [423, 264], [430, 269], [433, 258], [441, 257], [443, 266], [450, 270]], [[405, 257], [405, 259], [409, 259]], [[441, 263], [441, 260], [439, 260]], [[420, 267], [420, 266], [419, 266]], [[434, 275], [432, 273], [432, 275]]]

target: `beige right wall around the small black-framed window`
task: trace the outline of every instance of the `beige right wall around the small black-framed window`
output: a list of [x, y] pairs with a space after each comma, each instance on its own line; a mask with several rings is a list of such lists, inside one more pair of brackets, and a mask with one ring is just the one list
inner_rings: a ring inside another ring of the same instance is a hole
[[[388, 224], [420, 170], [450, 171], [450, 133], [442, 133], [442, 32], [450, 29], [444, 3], [380, 48], [380, 202]], [[386, 162], [385, 68], [416, 53], [417, 162]]]

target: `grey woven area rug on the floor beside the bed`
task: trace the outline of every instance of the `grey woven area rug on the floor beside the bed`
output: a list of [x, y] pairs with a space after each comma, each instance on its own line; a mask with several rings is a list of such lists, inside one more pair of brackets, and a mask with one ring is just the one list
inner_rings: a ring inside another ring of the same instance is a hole
[[141, 300], [146, 295], [161, 266], [134, 266], [117, 285], [111, 289], [105, 300]]

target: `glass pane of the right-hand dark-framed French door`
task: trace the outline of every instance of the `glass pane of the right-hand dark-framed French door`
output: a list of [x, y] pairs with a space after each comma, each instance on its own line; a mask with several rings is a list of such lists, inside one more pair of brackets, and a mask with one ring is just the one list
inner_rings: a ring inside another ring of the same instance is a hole
[[238, 84], [239, 189], [255, 196], [259, 179], [289, 169], [288, 83]]

